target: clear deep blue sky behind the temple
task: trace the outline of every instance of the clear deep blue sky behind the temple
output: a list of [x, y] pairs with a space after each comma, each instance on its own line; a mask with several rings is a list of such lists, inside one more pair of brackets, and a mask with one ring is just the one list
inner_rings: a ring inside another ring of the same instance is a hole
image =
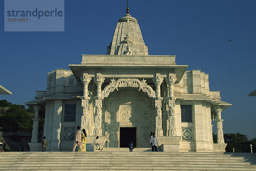
[[[125, 0], [65, 0], [64, 32], [4, 32], [0, 1], [0, 85], [11, 103], [46, 90], [47, 72], [106, 54]], [[211, 91], [232, 103], [224, 133], [256, 137], [256, 0], [129, 0], [150, 55], [177, 55], [178, 65], [209, 74]], [[232, 39], [231, 42], [228, 40]]]

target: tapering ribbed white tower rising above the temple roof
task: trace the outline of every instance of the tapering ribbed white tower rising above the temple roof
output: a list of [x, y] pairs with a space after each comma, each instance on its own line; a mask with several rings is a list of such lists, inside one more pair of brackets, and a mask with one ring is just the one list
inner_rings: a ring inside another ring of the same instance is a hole
[[[127, 49], [131, 52], [127, 53]], [[140, 26], [130, 14], [125, 14], [118, 20], [107, 55], [148, 55], [148, 47], [143, 41]]]

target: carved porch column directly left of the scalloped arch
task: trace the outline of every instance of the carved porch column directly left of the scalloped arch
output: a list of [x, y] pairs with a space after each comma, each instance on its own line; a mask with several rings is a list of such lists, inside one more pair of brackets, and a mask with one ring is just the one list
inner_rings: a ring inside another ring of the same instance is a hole
[[102, 83], [104, 82], [105, 78], [101, 76], [100, 73], [97, 73], [96, 77], [94, 77], [94, 81], [97, 85], [97, 96], [94, 97], [95, 99], [95, 126], [93, 130], [93, 136], [102, 136], [102, 100], [101, 92], [102, 92]]

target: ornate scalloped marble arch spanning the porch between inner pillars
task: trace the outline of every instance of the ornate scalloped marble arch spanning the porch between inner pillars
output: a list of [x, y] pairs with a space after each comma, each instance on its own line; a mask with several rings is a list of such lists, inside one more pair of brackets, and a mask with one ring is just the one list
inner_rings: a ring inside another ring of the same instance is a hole
[[110, 92], [118, 91], [118, 87], [138, 87], [139, 91], [148, 93], [149, 97], [156, 97], [156, 92], [153, 90], [151, 86], [146, 83], [146, 80], [139, 80], [136, 78], [120, 78], [117, 81], [115, 79], [111, 79], [111, 83], [107, 85], [102, 91], [102, 97], [108, 97]]

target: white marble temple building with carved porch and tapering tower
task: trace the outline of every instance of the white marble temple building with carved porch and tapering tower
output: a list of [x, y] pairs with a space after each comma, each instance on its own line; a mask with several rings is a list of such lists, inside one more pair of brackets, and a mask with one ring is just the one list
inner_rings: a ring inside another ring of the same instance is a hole
[[[39, 110], [48, 151], [71, 151], [76, 126], [87, 144], [99, 136], [108, 147], [151, 148], [154, 132], [162, 151], [225, 151], [221, 111], [231, 104], [209, 91], [209, 74], [186, 71], [174, 55], [148, 55], [134, 17], [118, 20], [106, 55], [82, 55], [71, 70], [47, 73], [46, 91], [25, 103], [35, 110], [31, 151], [41, 150]], [[212, 124], [217, 127], [213, 143]]]

